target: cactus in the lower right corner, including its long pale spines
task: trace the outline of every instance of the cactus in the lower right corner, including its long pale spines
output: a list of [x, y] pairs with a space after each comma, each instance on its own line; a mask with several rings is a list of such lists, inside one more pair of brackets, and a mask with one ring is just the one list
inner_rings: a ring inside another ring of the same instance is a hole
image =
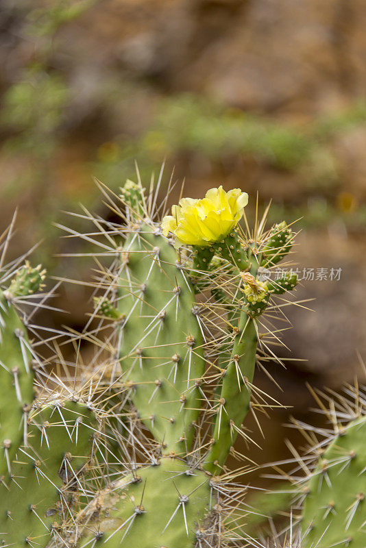
[[[263, 506], [271, 516], [284, 515], [290, 508], [296, 510], [297, 515], [291, 512], [291, 523], [285, 527], [286, 536], [296, 539], [295, 547], [363, 548], [366, 545], [365, 388], [356, 382], [355, 386], [346, 385], [339, 394], [312, 390], [319, 411], [325, 414], [334, 431], [328, 425], [315, 429], [293, 419], [306, 440], [311, 440], [310, 446], [303, 457], [293, 450], [295, 469], [292, 474], [284, 474], [286, 482], [282, 481], [277, 493], [274, 490], [266, 493], [270, 503], [263, 505], [263, 495], [255, 501], [259, 514]], [[280, 463], [276, 470], [279, 466]], [[299, 473], [300, 469], [304, 475]], [[253, 520], [252, 534], [258, 535], [255, 521], [263, 526], [265, 520], [263, 516]], [[271, 540], [267, 538], [263, 545], [269, 543], [270, 548], [277, 548], [280, 538], [280, 534]]]

